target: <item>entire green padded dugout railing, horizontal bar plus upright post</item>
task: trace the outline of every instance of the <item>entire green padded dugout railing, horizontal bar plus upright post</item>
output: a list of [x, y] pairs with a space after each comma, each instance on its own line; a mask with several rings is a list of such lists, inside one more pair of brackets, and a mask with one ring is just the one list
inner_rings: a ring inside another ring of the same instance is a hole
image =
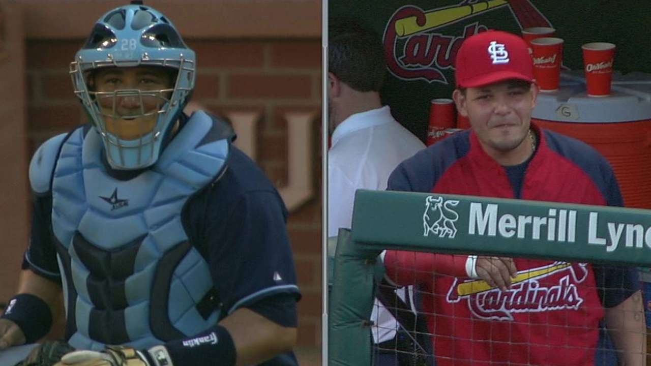
[[340, 230], [329, 363], [371, 364], [376, 258], [384, 249], [651, 266], [651, 210], [436, 193], [358, 190]]

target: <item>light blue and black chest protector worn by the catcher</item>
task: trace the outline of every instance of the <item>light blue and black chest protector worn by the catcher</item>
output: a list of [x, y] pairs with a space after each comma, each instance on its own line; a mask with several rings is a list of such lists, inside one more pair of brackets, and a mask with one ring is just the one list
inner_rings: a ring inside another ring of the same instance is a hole
[[109, 176], [96, 130], [61, 147], [52, 181], [52, 226], [70, 344], [146, 348], [219, 320], [208, 264], [181, 212], [226, 167], [223, 122], [197, 112], [156, 165], [129, 180]]

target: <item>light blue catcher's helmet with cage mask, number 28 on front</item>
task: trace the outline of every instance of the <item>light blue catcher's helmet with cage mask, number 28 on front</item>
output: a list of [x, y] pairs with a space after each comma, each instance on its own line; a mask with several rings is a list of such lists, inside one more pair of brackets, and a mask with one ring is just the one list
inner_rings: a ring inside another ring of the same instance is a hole
[[[156, 91], [117, 89], [96, 91], [88, 77], [102, 68], [159, 66], [174, 72], [174, 85]], [[75, 94], [83, 104], [96, 130], [102, 135], [106, 158], [115, 169], [140, 169], [153, 165], [161, 153], [161, 144], [186, 105], [195, 86], [195, 53], [187, 48], [174, 25], [157, 10], [140, 5], [115, 8], [94, 25], [83, 48], [70, 63]], [[118, 98], [155, 99], [152, 111], [120, 115]], [[113, 105], [113, 108], [100, 106]], [[154, 119], [139, 137], [128, 139], [107, 130], [107, 120]]]

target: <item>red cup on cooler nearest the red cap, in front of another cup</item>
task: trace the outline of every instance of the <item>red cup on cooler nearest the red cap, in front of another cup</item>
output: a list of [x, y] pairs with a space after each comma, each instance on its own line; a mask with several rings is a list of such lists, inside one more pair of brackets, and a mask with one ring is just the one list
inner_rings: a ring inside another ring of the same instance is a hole
[[533, 76], [540, 91], [557, 91], [561, 80], [563, 40], [543, 37], [531, 41], [533, 48]]

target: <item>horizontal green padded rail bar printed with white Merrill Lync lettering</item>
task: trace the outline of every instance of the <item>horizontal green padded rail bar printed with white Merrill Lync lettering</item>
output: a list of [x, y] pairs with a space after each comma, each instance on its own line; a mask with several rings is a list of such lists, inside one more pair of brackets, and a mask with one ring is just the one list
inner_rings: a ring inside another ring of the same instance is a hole
[[633, 208], [358, 190], [352, 234], [377, 249], [651, 265], [651, 210]]

